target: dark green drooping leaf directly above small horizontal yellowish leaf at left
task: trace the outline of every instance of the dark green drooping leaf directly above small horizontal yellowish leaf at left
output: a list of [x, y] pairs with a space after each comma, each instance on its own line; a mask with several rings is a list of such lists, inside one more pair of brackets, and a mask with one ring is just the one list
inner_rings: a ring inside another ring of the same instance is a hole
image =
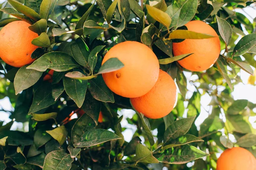
[[40, 111], [41, 109], [47, 108], [53, 103], [54, 99], [52, 98], [52, 88], [50, 87], [50, 85], [41, 85], [35, 91], [29, 113], [35, 113], [37, 111]]

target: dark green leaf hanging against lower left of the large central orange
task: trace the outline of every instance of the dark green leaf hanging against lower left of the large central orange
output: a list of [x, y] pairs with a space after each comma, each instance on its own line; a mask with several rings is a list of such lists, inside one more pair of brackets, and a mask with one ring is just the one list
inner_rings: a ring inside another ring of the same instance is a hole
[[88, 80], [88, 82], [88, 90], [94, 99], [102, 102], [115, 102], [112, 91], [105, 84], [101, 75], [98, 75], [96, 79]]

